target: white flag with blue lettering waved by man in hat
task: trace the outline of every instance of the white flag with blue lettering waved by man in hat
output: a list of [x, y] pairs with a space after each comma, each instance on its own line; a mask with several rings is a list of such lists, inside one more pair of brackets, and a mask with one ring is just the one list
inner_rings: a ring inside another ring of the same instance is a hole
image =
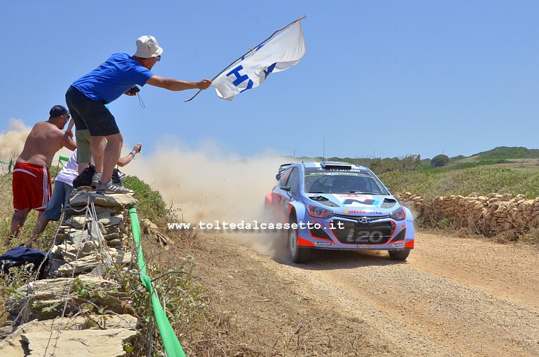
[[304, 54], [301, 21], [296, 20], [229, 66], [211, 85], [219, 97], [232, 100], [236, 94], [261, 85], [270, 73], [297, 64]]

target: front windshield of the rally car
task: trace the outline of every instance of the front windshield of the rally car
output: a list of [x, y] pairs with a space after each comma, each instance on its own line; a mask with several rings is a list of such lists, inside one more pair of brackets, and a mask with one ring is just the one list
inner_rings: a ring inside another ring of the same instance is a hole
[[305, 193], [370, 193], [388, 195], [369, 172], [306, 172]]

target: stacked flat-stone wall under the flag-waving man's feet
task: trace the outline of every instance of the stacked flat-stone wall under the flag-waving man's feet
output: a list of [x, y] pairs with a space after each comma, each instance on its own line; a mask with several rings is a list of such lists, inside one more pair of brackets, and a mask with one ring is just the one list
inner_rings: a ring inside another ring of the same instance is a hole
[[118, 283], [104, 276], [132, 261], [124, 239], [136, 202], [130, 194], [73, 192], [50, 253], [51, 279], [22, 286], [6, 302], [0, 356], [125, 355], [138, 321]]

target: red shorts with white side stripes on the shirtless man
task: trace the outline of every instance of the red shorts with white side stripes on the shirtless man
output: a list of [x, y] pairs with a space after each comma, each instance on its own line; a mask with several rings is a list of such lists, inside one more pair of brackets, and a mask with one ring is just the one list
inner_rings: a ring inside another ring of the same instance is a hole
[[13, 209], [43, 212], [52, 192], [46, 166], [15, 163], [13, 169]]

